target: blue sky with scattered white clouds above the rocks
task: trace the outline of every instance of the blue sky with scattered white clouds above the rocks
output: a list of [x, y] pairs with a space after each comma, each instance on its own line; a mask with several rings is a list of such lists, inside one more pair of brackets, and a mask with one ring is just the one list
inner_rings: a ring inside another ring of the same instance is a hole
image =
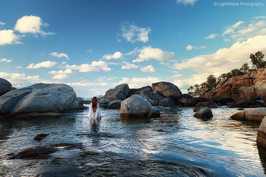
[[84, 98], [160, 81], [186, 93], [266, 53], [266, 3], [223, 2], [0, 1], [0, 77], [64, 83]]

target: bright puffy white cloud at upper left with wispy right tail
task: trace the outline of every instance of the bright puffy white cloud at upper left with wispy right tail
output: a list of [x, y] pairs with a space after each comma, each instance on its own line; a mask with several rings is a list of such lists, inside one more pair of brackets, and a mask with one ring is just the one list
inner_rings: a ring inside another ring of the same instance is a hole
[[52, 35], [55, 33], [51, 32], [44, 32], [41, 30], [41, 26], [47, 27], [48, 24], [42, 23], [42, 19], [38, 16], [23, 16], [16, 22], [16, 25], [14, 27], [15, 31], [18, 31], [20, 33], [40, 33], [42, 36]]

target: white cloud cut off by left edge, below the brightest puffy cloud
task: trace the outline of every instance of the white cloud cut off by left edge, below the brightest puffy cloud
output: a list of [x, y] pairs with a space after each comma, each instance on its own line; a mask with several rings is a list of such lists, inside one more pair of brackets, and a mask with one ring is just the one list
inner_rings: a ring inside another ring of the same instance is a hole
[[19, 42], [20, 36], [14, 34], [14, 31], [9, 29], [9, 30], [1, 30], [0, 31], [0, 45], [5, 45], [5, 44], [21, 44]]

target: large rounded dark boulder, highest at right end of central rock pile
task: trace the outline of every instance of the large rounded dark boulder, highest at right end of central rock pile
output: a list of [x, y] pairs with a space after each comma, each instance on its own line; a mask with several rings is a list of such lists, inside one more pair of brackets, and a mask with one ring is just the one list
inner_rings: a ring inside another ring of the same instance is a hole
[[176, 85], [169, 82], [161, 81], [158, 83], [153, 83], [152, 91], [155, 92], [156, 90], [163, 93], [165, 97], [169, 97], [174, 101], [177, 101], [182, 96], [180, 89]]

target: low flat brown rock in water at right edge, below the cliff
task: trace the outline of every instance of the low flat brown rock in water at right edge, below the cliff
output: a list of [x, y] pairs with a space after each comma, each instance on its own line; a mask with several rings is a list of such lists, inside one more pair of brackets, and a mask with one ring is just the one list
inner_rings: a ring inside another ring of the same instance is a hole
[[265, 116], [266, 109], [252, 109], [235, 113], [230, 118], [233, 120], [261, 122]]

